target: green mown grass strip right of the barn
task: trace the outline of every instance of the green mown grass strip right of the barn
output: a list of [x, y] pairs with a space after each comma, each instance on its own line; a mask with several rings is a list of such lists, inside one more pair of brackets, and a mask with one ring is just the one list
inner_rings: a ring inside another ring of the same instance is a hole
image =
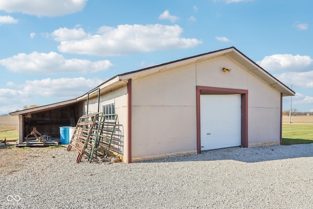
[[313, 124], [283, 124], [282, 145], [313, 143]]

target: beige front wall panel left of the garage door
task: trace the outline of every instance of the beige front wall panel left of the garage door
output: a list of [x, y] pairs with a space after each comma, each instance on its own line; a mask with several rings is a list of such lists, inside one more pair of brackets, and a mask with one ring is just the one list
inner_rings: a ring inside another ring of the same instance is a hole
[[195, 65], [132, 81], [132, 157], [197, 150]]

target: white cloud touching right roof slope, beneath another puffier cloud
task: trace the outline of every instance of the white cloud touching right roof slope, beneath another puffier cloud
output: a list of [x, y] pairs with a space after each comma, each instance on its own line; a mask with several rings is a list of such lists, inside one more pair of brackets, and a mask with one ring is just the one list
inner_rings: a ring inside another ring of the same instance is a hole
[[285, 72], [274, 75], [284, 84], [302, 88], [313, 88], [313, 71], [308, 72]]

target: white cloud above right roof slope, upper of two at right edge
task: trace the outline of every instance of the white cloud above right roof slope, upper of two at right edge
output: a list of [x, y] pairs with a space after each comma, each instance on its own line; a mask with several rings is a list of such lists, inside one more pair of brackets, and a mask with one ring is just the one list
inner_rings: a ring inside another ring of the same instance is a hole
[[274, 54], [266, 56], [257, 64], [268, 71], [307, 71], [310, 70], [313, 59], [310, 56], [300, 56], [292, 54]]

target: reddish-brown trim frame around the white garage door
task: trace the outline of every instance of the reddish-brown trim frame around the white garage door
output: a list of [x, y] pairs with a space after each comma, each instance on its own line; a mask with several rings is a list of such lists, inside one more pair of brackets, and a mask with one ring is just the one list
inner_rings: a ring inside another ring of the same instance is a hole
[[241, 94], [241, 146], [248, 147], [248, 90], [197, 86], [197, 153], [201, 153], [201, 94]]

